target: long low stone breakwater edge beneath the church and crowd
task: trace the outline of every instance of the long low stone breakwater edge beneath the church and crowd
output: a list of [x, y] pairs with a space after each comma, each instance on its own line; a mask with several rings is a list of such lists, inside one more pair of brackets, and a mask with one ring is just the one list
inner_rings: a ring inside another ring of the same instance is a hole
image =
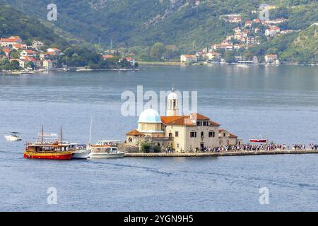
[[218, 157], [238, 155], [318, 154], [318, 150], [258, 150], [224, 153], [125, 153], [125, 157]]

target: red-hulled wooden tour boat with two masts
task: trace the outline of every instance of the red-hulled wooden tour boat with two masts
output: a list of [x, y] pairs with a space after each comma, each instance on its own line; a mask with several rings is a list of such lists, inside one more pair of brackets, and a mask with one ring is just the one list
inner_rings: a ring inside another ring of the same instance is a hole
[[[56, 138], [51, 138], [53, 136]], [[24, 157], [45, 160], [71, 160], [76, 150], [78, 150], [76, 145], [69, 142], [62, 142], [61, 136], [58, 141], [56, 133], [43, 133], [42, 126], [37, 141], [34, 143], [26, 143]]]

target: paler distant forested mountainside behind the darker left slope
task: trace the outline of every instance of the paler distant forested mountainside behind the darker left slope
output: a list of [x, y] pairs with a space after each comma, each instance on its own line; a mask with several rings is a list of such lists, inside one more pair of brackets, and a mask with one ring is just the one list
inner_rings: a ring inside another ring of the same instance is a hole
[[[57, 21], [46, 20], [49, 3], [57, 4]], [[252, 19], [257, 15], [251, 11], [257, 10], [262, 3], [265, 2], [201, 0], [197, 5], [194, 0], [0, 0], [2, 5], [11, 4], [23, 9], [23, 13], [41, 20], [66, 39], [76, 37], [81, 43], [98, 44], [95, 47], [121, 49], [143, 60], [177, 59], [179, 54], [193, 53], [220, 42], [237, 26], [225, 23], [220, 16], [241, 13], [243, 20]], [[288, 21], [280, 25], [284, 30], [310, 30], [310, 25], [317, 23], [317, 1], [273, 0], [266, 4], [279, 6], [270, 16], [287, 18]], [[316, 32], [311, 32], [317, 39]], [[269, 40], [261, 37], [261, 45], [245, 54], [261, 56], [276, 48], [284, 60], [300, 62], [305, 48], [295, 42], [303, 35], [300, 31]], [[307, 40], [311, 44], [312, 41]], [[290, 52], [290, 48], [294, 52]], [[290, 57], [292, 55], [296, 57]], [[312, 61], [314, 57], [306, 57], [306, 61]]]

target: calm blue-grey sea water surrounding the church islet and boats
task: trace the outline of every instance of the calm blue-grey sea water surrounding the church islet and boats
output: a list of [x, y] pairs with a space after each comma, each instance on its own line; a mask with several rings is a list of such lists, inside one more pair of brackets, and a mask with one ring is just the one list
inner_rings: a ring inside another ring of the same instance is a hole
[[[318, 143], [318, 69], [300, 66], [143, 67], [141, 71], [0, 76], [0, 210], [318, 210], [318, 155], [23, 159], [25, 141], [64, 128], [68, 141], [124, 140], [124, 90], [198, 90], [199, 112], [245, 141]], [[3, 136], [20, 131], [23, 142]], [[57, 205], [47, 189], [57, 189]], [[259, 189], [269, 189], [269, 205]]]

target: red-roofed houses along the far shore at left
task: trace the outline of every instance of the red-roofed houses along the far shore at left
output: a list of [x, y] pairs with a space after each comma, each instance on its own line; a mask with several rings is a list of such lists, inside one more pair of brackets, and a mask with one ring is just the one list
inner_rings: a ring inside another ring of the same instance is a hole
[[[40, 40], [26, 44], [18, 35], [0, 39], [0, 71], [3, 73], [35, 73], [43, 71], [89, 71], [89, 67], [59, 65], [64, 52], [56, 47], [45, 47]], [[117, 57], [114, 52], [100, 54], [103, 61], [118, 60], [117, 64], [135, 69], [138, 63], [132, 57]], [[128, 66], [126, 66], [128, 64]]]

